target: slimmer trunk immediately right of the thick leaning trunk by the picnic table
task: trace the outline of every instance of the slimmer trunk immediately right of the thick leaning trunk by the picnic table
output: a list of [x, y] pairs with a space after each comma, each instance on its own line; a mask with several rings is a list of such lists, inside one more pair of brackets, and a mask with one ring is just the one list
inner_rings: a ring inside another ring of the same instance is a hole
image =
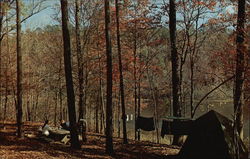
[[[83, 52], [81, 47], [81, 34], [80, 34], [80, 18], [79, 18], [79, 0], [75, 0], [75, 34], [76, 34], [76, 52], [77, 52], [77, 65], [78, 65], [78, 84], [79, 84], [79, 120], [86, 118], [86, 111], [83, 111], [83, 97], [84, 97], [84, 88], [83, 88]], [[85, 106], [86, 107], [86, 106]], [[85, 113], [84, 113], [85, 112]], [[87, 141], [86, 137], [86, 124], [82, 130], [82, 139]]]

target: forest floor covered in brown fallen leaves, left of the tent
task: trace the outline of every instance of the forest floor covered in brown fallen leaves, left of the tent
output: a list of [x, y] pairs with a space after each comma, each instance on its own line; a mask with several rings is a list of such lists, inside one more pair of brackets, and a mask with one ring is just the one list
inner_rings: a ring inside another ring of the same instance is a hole
[[[2, 124], [1, 124], [2, 125]], [[25, 123], [26, 134], [35, 134], [42, 123]], [[0, 128], [0, 159], [158, 159], [175, 155], [178, 147], [155, 144], [151, 142], [138, 142], [129, 140], [129, 144], [122, 144], [122, 139], [114, 138], [115, 155], [105, 154], [105, 136], [88, 133], [86, 143], [80, 150], [72, 150], [69, 145], [60, 142], [44, 142], [37, 137], [16, 137], [14, 123], [5, 123]]]

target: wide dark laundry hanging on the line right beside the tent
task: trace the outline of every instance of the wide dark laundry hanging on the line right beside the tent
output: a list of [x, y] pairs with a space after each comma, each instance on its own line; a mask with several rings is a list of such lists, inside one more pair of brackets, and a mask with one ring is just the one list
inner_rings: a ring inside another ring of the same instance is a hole
[[162, 120], [161, 137], [164, 138], [165, 135], [188, 135], [192, 123], [192, 120], [178, 122]]

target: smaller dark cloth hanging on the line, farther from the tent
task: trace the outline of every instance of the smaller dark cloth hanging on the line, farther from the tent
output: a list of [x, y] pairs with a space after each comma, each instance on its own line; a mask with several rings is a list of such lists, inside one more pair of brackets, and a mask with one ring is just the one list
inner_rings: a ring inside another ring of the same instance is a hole
[[144, 131], [153, 131], [155, 130], [154, 118], [145, 118], [138, 116], [136, 120], [136, 130], [141, 129]]

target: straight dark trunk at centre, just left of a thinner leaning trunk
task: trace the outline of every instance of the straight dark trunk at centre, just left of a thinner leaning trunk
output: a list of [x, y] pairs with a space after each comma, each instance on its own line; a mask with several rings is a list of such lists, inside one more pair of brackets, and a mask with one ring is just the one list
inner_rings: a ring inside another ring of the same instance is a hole
[[110, 35], [109, 0], [105, 0], [105, 39], [107, 56], [107, 96], [106, 96], [106, 153], [112, 155], [113, 150], [113, 108], [112, 108], [112, 44]]

